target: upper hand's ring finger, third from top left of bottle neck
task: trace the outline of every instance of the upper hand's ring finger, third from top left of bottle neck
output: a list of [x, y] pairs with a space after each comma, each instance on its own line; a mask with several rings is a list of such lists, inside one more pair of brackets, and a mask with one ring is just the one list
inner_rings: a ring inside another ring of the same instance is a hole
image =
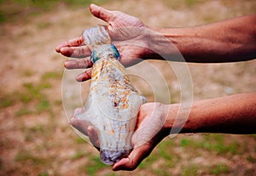
[[90, 58], [84, 58], [82, 60], [67, 60], [64, 63], [65, 68], [67, 69], [82, 69], [91, 67], [93, 63]]

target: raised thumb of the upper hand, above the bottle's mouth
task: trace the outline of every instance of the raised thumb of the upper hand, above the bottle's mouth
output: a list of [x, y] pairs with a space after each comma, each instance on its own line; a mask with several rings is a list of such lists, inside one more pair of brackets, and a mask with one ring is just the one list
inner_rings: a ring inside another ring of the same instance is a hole
[[108, 23], [108, 21], [113, 20], [113, 14], [107, 9], [103, 9], [95, 4], [90, 4], [90, 13], [96, 18], [102, 19]]

